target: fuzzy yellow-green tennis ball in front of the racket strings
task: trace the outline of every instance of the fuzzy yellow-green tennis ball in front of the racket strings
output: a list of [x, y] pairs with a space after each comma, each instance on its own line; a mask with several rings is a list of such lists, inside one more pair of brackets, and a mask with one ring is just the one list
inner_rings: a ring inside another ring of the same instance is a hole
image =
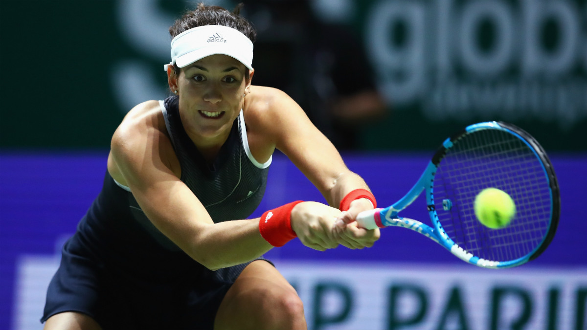
[[504, 228], [515, 215], [514, 200], [503, 190], [486, 188], [475, 197], [477, 219], [492, 229]]

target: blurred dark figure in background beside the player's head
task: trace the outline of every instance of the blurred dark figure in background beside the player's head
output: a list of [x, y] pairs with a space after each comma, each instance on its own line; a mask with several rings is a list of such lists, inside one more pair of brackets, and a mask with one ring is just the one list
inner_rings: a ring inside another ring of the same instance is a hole
[[359, 147], [366, 123], [387, 113], [363, 44], [350, 26], [319, 20], [311, 0], [251, 0], [254, 85], [287, 92], [339, 150]]

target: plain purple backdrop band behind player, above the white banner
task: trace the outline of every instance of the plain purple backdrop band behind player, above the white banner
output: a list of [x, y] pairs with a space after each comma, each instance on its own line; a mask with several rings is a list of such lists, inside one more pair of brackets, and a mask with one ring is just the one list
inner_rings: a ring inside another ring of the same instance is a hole
[[[106, 152], [0, 154], [0, 328], [11, 327], [14, 315], [16, 264], [23, 255], [55, 255], [56, 244], [71, 235], [77, 221], [100, 191], [106, 170]], [[349, 168], [372, 188], [380, 206], [401, 198], [419, 179], [429, 154], [347, 154]], [[555, 154], [551, 160], [561, 189], [561, 221], [552, 244], [524, 267], [587, 266], [587, 222], [583, 212], [587, 187], [587, 154]], [[281, 154], [274, 156], [265, 199], [253, 214], [294, 200], [324, 201], [322, 195]], [[410, 218], [429, 221], [424, 198], [404, 211]], [[273, 260], [381, 261], [459, 264], [423, 235], [404, 228], [386, 228], [375, 247], [349, 250], [339, 247], [319, 252], [298, 240], [270, 251]], [[41, 311], [38, 311], [39, 317]]]

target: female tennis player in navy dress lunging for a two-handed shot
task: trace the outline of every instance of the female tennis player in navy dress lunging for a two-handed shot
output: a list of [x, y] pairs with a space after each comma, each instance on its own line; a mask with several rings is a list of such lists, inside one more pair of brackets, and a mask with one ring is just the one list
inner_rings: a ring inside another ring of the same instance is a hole
[[[295, 237], [320, 251], [379, 238], [353, 222], [376, 204], [365, 181], [288, 95], [251, 85], [255, 31], [238, 12], [200, 4], [171, 26], [172, 96], [114, 132], [45, 329], [305, 329], [295, 289], [262, 255]], [[275, 149], [334, 207], [292, 201], [247, 219]]]

